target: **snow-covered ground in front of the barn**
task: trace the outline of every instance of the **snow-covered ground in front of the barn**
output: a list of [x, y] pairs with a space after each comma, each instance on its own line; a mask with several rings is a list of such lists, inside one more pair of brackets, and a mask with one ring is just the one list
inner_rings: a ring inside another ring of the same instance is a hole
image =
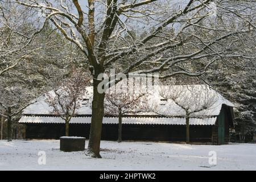
[[[256, 144], [101, 141], [101, 148], [102, 159], [93, 159], [86, 151], [60, 151], [59, 140], [1, 140], [0, 170], [256, 170]], [[46, 164], [38, 164], [44, 154], [39, 151], [45, 152]], [[214, 154], [216, 165], [209, 164]]]

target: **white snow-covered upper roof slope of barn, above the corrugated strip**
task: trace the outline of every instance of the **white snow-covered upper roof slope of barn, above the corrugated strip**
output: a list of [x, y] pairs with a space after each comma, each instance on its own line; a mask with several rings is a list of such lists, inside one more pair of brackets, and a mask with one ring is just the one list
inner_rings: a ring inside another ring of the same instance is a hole
[[[177, 88], [182, 85], [173, 85], [172, 88]], [[227, 105], [230, 107], [234, 107], [234, 105], [226, 100], [223, 96], [221, 96], [220, 93], [217, 93], [213, 89], [209, 89], [209, 87], [205, 87], [202, 85], [188, 85], [188, 86], [182, 86], [183, 89], [191, 89], [192, 87], [200, 87], [201, 92], [205, 94], [212, 95], [215, 98], [214, 104], [210, 106], [207, 110], [202, 110], [200, 112], [197, 112], [193, 114], [193, 117], [198, 117], [201, 115], [205, 116], [216, 116], [220, 114], [220, 110], [222, 105]], [[167, 89], [170, 89], [170, 86], [166, 87]], [[88, 87], [88, 96], [86, 97], [92, 97], [93, 94], [93, 89], [92, 87]], [[155, 86], [154, 89], [148, 90], [147, 94], [147, 101], [148, 104], [154, 104], [156, 106], [156, 112], [151, 112], [151, 113], [139, 113], [138, 115], [168, 115], [168, 117], [176, 117], [176, 116], [184, 116], [185, 111], [181, 109], [179, 106], [177, 106], [174, 101], [172, 100], [167, 100], [164, 105], [163, 101], [161, 101], [162, 97], [160, 96], [159, 93], [160, 86]], [[126, 90], [125, 90], [126, 92]], [[52, 115], [53, 114], [53, 109], [46, 103], [46, 97], [41, 96], [38, 98], [38, 101], [35, 102], [34, 104], [28, 106], [26, 109], [24, 109], [23, 114], [24, 115]], [[90, 115], [92, 114], [92, 109], [89, 105], [82, 105], [77, 111], [77, 115]], [[157, 114], [156, 114], [157, 113]], [[115, 114], [113, 114], [115, 115]]]

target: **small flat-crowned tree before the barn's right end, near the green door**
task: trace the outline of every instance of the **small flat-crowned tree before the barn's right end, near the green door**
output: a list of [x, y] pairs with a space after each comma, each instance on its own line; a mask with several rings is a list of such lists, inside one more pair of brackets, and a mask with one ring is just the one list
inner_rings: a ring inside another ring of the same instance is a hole
[[206, 85], [171, 85], [163, 86], [160, 96], [165, 100], [172, 100], [178, 108], [183, 110], [186, 119], [186, 142], [189, 143], [189, 118], [203, 118], [217, 101], [216, 92]]

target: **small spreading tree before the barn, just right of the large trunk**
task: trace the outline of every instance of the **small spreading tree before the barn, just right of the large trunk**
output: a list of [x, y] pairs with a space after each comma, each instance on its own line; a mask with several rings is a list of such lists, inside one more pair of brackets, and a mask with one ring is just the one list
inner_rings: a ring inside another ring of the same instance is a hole
[[[119, 83], [121, 84], [121, 83]], [[122, 117], [124, 114], [136, 114], [147, 110], [146, 92], [133, 90], [126, 86], [110, 89], [106, 93], [105, 114], [118, 115], [118, 142], [122, 142]]]

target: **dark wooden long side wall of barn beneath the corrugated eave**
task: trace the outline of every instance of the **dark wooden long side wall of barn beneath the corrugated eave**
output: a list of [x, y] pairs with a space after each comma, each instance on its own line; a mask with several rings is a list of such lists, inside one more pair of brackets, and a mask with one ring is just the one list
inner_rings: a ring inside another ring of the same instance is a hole
[[[70, 136], [89, 138], [89, 124], [70, 124]], [[185, 141], [184, 125], [122, 125], [123, 140]], [[65, 134], [64, 124], [26, 124], [27, 139], [59, 139]], [[103, 140], [117, 140], [118, 125], [102, 126]], [[212, 142], [212, 126], [190, 126], [191, 142]]]

